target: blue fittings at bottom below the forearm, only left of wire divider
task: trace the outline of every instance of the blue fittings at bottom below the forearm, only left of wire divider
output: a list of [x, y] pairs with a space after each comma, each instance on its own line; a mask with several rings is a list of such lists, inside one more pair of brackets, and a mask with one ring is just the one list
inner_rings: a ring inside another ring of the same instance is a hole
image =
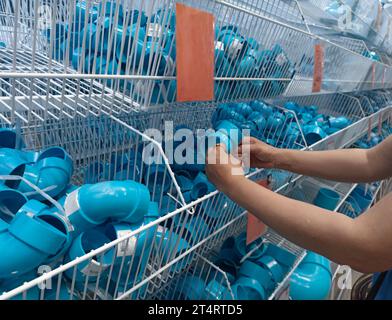
[[[246, 245], [246, 234], [228, 238], [211, 262], [220, 271], [182, 276], [168, 298], [203, 300], [264, 300], [292, 268], [296, 256], [261, 239]], [[222, 277], [228, 281], [222, 281]], [[185, 288], [185, 289], [184, 289]]]

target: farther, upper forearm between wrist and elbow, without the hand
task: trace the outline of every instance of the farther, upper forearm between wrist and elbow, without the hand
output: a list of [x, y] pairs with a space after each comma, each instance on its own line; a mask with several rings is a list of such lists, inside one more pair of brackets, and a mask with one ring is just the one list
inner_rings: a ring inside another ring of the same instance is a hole
[[375, 181], [367, 150], [333, 151], [279, 150], [275, 166], [279, 169], [341, 182]]

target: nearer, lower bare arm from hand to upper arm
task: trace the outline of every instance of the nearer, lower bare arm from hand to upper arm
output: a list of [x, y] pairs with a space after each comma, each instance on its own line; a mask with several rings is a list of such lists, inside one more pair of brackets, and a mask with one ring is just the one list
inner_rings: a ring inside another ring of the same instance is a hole
[[358, 219], [286, 198], [232, 175], [233, 165], [207, 165], [218, 189], [290, 241], [362, 272], [392, 267], [392, 195]]

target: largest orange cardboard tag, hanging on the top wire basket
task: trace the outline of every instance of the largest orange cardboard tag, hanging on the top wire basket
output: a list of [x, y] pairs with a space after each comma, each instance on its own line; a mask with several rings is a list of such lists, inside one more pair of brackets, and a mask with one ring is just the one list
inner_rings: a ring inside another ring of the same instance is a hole
[[176, 4], [177, 101], [214, 99], [214, 16]]

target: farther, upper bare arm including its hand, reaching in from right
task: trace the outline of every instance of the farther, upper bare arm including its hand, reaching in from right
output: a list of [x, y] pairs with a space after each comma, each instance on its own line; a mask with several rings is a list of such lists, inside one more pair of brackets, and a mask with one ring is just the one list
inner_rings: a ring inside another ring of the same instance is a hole
[[243, 143], [241, 155], [245, 150], [256, 167], [274, 167], [334, 181], [371, 182], [392, 176], [392, 137], [369, 150], [333, 151], [277, 149], [251, 138], [250, 143]]

